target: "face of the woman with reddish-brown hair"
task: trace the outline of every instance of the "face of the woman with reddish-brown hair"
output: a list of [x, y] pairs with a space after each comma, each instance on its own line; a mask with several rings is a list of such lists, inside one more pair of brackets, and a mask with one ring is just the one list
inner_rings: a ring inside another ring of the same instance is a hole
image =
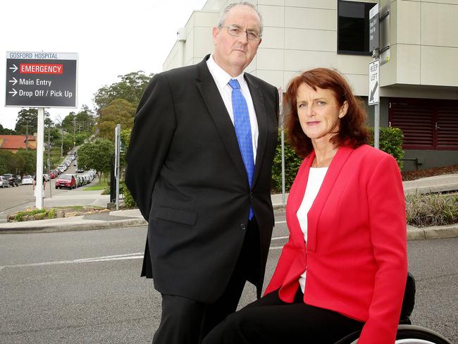
[[340, 106], [334, 92], [302, 83], [297, 89], [297, 114], [302, 130], [312, 142], [329, 141], [339, 132], [340, 118], [347, 114], [348, 104]]

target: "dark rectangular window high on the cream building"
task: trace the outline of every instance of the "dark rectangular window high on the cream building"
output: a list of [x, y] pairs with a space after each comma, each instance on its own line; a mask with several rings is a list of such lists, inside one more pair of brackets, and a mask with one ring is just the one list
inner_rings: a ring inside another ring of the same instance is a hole
[[338, 1], [338, 54], [371, 55], [369, 51], [370, 2]]

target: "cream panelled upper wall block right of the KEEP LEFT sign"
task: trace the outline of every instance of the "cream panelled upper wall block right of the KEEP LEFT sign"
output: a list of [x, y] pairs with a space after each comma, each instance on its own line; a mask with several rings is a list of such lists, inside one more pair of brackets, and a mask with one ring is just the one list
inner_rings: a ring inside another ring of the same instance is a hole
[[380, 85], [458, 87], [458, 1], [396, 0], [389, 8], [391, 61]]

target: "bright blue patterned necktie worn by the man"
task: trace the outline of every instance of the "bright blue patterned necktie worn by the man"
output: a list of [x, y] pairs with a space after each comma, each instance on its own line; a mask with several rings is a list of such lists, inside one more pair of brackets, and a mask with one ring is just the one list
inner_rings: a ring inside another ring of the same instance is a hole
[[[249, 188], [251, 190], [254, 173], [252, 126], [249, 123], [248, 106], [245, 97], [240, 90], [239, 82], [235, 79], [229, 81], [232, 87], [232, 101], [234, 111], [234, 127], [237, 142], [239, 143], [240, 153], [242, 154], [243, 164], [247, 170]], [[249, 207], [249, 219], [253, 218], [253, 209]]]

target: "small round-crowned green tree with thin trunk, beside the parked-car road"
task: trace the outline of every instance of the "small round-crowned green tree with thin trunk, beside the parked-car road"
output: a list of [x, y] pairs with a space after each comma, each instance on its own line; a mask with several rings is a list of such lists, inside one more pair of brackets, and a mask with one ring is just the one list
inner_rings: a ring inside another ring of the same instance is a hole
[[93, 168], [97, 171], [100, 183], [102, 173], [110, 171], [113, 154], [114, 145], [109, 140], [97, 139], [94, 142], [85, 143], [78, 149], [78, 167]]

